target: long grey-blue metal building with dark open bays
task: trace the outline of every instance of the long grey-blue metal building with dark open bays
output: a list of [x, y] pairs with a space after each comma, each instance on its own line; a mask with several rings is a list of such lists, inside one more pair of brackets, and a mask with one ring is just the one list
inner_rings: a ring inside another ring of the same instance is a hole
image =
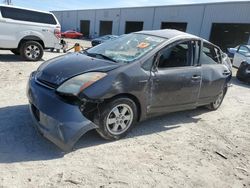
[[63, 31], [78, 30], [90, 38], [174, 28], [223, 49], [250, 42], [250, 1], [52, 12]]

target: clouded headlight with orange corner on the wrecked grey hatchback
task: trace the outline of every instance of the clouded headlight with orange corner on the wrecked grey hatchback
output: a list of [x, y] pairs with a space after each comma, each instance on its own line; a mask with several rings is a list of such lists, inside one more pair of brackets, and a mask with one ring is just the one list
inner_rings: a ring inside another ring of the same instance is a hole
[[59, 93], [77, 96], [85, 88], [102, 79], [106, 75], [107, 74], [103, 72], [89, 72], [81, 74], [64, 82], [57, 88], [57, 91]]

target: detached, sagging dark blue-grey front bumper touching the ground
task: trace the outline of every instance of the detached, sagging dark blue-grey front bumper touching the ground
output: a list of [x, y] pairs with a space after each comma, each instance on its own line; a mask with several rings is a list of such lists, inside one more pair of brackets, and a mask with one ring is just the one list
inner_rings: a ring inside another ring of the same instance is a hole
[[77, 105], [62, 101], [54, 89], [41, 86], [32, 75], [27, 96], [35, 127], [64, 151], [71, 151], [83, 134], [97, 128]]

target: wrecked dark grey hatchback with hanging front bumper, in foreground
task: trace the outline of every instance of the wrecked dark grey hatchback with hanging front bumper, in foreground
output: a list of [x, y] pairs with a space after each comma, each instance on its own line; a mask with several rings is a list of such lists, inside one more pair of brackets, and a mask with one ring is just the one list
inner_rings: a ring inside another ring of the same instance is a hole
[[27, 95], [39, 131], [70, 150], [88, 130], [124, 137], [136, 122], [220, 107], [230, 69], [219, 47], [177, 30], [131, 33], [43, 63]]

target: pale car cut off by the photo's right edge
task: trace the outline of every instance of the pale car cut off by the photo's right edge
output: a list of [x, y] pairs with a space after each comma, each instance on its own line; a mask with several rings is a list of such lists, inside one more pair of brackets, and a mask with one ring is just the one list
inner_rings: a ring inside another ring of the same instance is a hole
[[238, 68], [238, 80], [250, 83], [250, 45], [241, 45], [235, 52], [233, 66]]

